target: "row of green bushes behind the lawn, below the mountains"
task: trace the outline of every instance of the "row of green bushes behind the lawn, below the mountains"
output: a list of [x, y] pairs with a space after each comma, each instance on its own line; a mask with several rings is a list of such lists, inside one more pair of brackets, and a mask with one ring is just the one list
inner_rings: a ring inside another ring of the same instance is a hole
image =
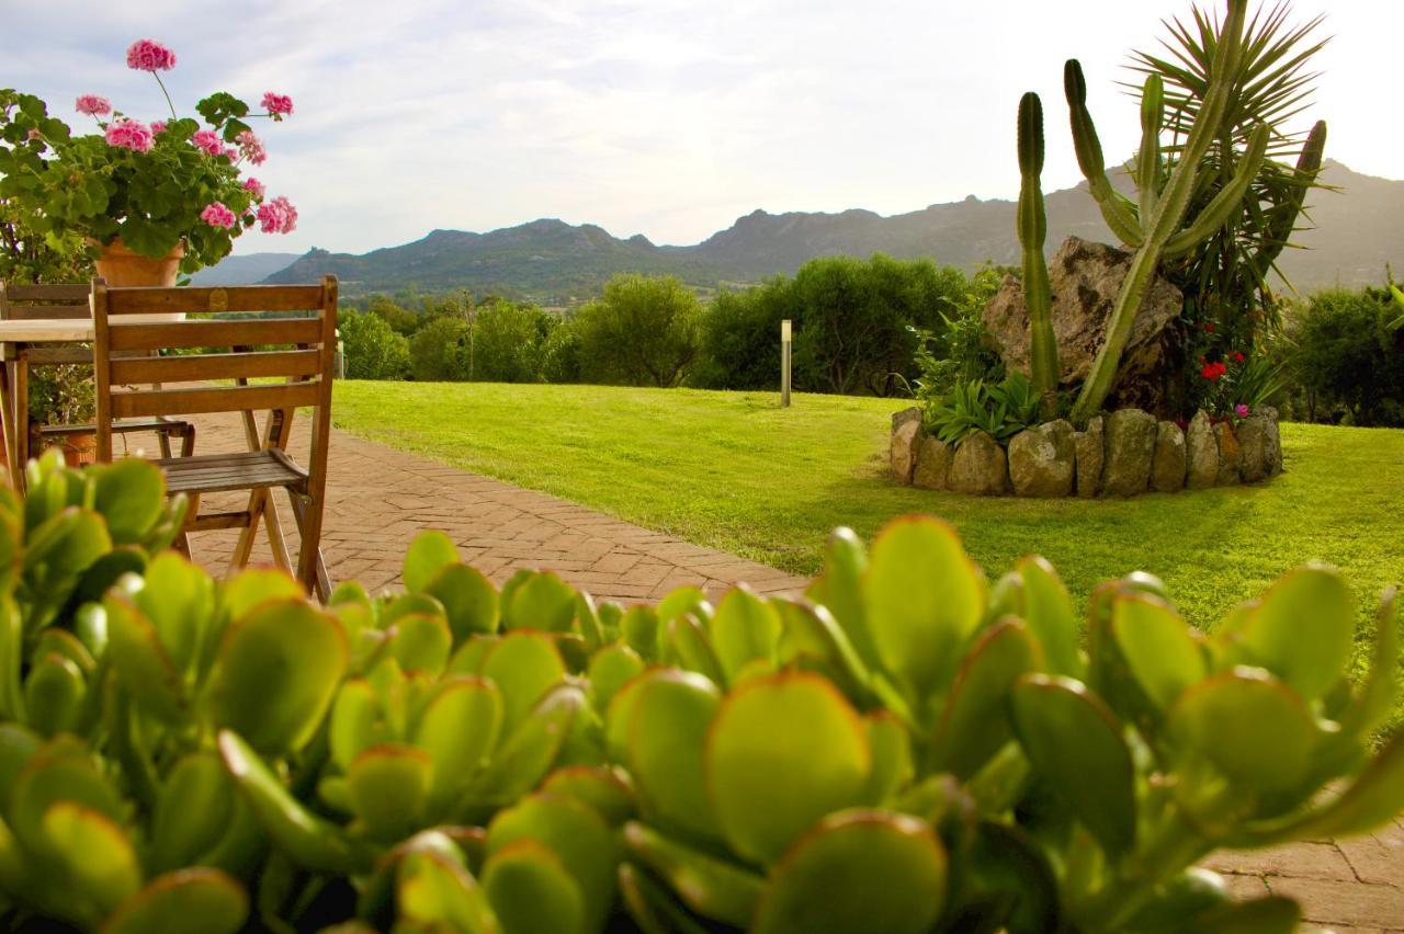
[[[372, 296], [341, 318], [350, 379], [778, 388], [782, 320], [799, 391], [904, 393], [924, 339], [980, 307], [1001, 272], [826, 257], [703, 304], [673, 276], [618, 275], [557, 313], [468, 293]], [[406, 307], [418, 304], [418, 307]]]

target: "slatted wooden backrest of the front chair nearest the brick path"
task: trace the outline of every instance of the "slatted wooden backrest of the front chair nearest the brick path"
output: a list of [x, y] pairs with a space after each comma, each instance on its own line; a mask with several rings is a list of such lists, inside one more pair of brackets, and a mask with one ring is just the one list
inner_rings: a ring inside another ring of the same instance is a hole
[[[292, 412], [312, 408], [309, 468], [313, 475], [326, 477], [337, 349], [336, 276], [326, 276], [320, 285], [215, 289], [117, 289], [95, 279], [91, 299], [100, 460], [112, 457], [114, 418], [279, 411], [291, 429]], [[176, 317], [173, 313], [201, 318], [152, 321], [149, 317]], [[143, 317], [133, 321], [132, 316]], [[132, 351], [152, 356], [126, 356]], [[161, 351], [206, 352], [157, 356]], [[208, 383], [263, 377], [284, 381]], [[286, 431], [281, 442], [271, 443], [285, 446]]]

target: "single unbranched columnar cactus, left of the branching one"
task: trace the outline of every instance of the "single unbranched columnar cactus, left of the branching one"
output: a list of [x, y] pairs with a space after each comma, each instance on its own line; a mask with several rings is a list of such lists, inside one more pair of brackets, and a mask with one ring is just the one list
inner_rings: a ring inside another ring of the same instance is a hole
[[1029, 310], [1029, 374], [1042, 398], [1045, 417], [1052, 418], [1061, 367], [1053, 335], [1053, 297], [1049, 269], [1043, 261], [1047, 215], [1039, 175], [1043, 172], [1043, 104], [1029, 91], [1019, 101], [1019, 245], [1024, 248], [1024, 304]]

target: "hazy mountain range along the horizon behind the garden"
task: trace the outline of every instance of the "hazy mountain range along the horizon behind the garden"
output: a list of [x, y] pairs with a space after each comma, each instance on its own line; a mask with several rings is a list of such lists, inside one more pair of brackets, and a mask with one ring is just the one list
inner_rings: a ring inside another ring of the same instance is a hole
[[[1302, 250], [1287, 250], [1279, 265], [1303, 290], [1330, 285], [1379, 283], [1390, 261], [1404, 261], [1404, 181], [1353, 172], [1327, 163], [1321, 181], [1334, 191], [1309, 198], [1314, 229], [1302, 231]], [[1119, 184], [1127, 185], [1125, 180]], [[1047, 194], [1047, 250], [1068, 234], [1115, 243], [1085, 182]], [[534, 220], [489, 233], [434, 230], [423, 240], [371, 252], [326, 250], [230, 257], [197, 273], [201, 285], [310, 282], [323, 273], [341, 279], [347, 295], [469, 287], [543, 304], [571, 304], [598, 295], [618, 272], [677, 275], [698, 287], [747, 283], [793, 273], [814, 257], [925, 257], [974, 266], [1015, 264], [1012, 201], [969, 196], [904, 215], [852, 209], [841, 213], [755, 210], [699, 244], [657, 245], [636, 234], [618, 238], [595, 224]], [[1404, 262], [1401, 262], [1404, 265]]]

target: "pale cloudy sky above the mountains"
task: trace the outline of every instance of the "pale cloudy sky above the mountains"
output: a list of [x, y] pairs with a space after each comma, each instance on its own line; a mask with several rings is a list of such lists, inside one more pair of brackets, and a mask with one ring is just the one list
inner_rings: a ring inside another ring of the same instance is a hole
[[[1220, 0], [1221, 1], [1221, 0]], [[1327, 156], [1404, 178], [1397, 0], [1297, 0], [1331, 42], [1307, 119]], [[1189, 3], [1143, 0], [0, 0], [0, 87], [79, 129], [79, 94], [168, 115], [138, 38], [171, 48], [181, 115], [218, 90], [292, 95], [254, 174], [299, 209], [234, 252], [364, 252], [538, 217], [698, 243], [761, 208], [918, 210], [1018, 194], [1019, 95], [1042, 94], [1045, 191], [1080, 180], [1061, 69], [1078, 57], [1108, 158], [1130, 154], [1132, 49]]]

